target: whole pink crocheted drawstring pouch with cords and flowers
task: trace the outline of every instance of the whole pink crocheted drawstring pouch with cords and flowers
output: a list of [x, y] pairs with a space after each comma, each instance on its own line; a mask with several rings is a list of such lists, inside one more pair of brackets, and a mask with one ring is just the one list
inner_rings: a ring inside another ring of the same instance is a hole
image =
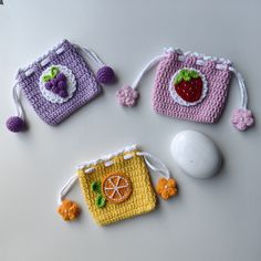
[[234, 111], [231, 122], [239, 130], [253, 125], [242, 75], [229, 60], [196, 52], [184, 53], [180, 50], [166, 49], [144, 67], [133, 85], [125, 85], [116, 93], [121, 105], [136, 104], [139, 82], [156, 64], [158, 65], [152, 103], [157, 113], [201, 123], [215, 123], [222, 113], [231, 74], [234, 74], [241, 92], [241, 106]]

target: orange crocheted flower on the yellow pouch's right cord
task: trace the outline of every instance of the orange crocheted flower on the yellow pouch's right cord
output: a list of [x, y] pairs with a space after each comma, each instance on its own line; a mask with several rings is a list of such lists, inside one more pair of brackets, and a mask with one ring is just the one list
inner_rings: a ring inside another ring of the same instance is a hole
[[178, 192], [176, 180], [173, 178], [160, 178], [156, 186], [156, 191], [163, 199], [169, 199]]

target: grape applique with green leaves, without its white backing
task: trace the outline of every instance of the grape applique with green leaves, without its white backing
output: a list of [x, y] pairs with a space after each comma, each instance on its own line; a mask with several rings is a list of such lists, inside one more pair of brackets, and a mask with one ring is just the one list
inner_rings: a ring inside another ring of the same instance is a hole
[[62, 98], [69, 96], [66, 76], [56, 66], [52, 66], [49, 74], [42, 76], [46, 90]]

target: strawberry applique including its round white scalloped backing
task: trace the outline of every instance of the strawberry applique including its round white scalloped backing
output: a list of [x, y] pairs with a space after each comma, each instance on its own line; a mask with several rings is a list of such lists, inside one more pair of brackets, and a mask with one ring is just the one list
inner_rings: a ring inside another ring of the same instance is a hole
[[207, 81], [196, 69], [181, 69], [173, 76], [169, 88], [180, 105], [196, 105], [206, 96]]

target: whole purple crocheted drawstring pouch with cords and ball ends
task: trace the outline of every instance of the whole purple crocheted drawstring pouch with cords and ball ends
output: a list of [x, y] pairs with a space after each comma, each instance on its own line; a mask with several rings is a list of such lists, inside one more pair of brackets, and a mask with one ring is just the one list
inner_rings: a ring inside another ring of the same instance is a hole
[[[96, 76], [84, 54], [97, 65]], [[7, 121], [7, 127], [14, 133], [25, 129], [20, 91], [45, 123], [58, 125], [96, 97], [101, 93], [100, 83], [112, 83], [114, 77], [114, 71], [96, 53], [64, 40], [35, 62], [18, 71], [13, 86], [17, 116]]]

